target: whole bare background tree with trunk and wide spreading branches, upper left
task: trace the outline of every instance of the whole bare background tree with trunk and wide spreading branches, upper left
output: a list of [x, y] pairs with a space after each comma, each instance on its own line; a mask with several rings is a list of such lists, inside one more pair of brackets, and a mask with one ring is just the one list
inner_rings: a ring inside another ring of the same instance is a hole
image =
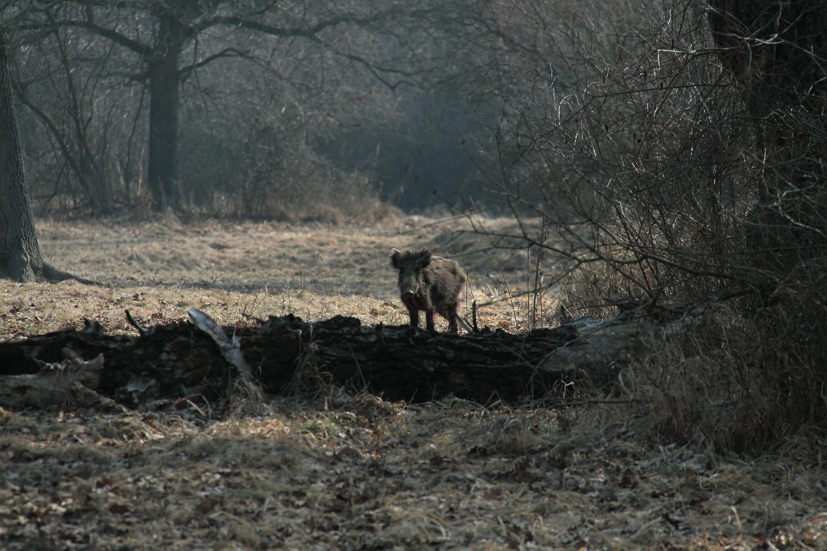
[[[290, 40], [324, 44], [332, 55], [361, 64], [380, 83], [395, 87], [409, 80], [408, 68], [385, 67], [375, 47], [359, 51], [347, 40], [354, 28], [370, 27], [388, 36], [400, 32], [401, 19], [427, 19], [433, 7], [417, 2], [237, 2], [235, 0], [81, 0], [80, 2], [18, 2], [13, 25], [36, 35], [60, 28], [83, 29], [111, 40], [136, 56], [141, 69], [124, 75], [149, 87], [148, 186], [156, 207], [180, 206], [179, 92], [181, 79], [216, 59], [245, 57], [232, 44], [232, 31], [246, 30]], [[334, 32], [338, 31], [338, 32]], [[202, 40], [223, 33], [224, 47], [203, 52]], [[396, 46], [394, 46], [396, 47]], [[182, 63], [184, 56], [189, 63]], [[386, 57], [386, 56], [385, 56]], [[410, 55], [409, 55], [410, 58]], [[410, 59], [409, 59], [410, 60]]]

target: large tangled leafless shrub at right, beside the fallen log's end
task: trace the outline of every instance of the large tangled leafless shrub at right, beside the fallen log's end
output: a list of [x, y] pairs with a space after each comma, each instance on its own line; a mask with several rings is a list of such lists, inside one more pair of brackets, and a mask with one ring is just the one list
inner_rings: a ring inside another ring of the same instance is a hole
[[737, 451], [827, 420], [827, 12], [753, 3], [653, 2], [608, 31], [523, 2], [547, 41], [497, 68], [485, 169], [566, 240], [522, 232], [571, 260], [570, 310], [660, 324], [624, 375], [649, 434]]

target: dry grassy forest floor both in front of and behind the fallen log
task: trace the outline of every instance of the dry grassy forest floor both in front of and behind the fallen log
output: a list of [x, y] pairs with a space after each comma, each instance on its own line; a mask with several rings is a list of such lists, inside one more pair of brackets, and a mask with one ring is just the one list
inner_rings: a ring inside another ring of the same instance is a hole
[[[84, 317], [130, 333], [125, 309], [155, 325], [192, 306], [222, 325], [288, 312], [402, 324], [388, 254], [426, 245], [466, 267], [463, 311], [485, 304], [482, 325], [556, 325], [559, 287], [537, 306], [519, 296], [536, 273], [525, 249], [434, 222], [41, 221], [46, 256], [102, 285], [0, 281], [0, 339]], [[552, 278], [565, 260], [543, 268]], [[647, 446], [628, 406], [607, 407], [331, 387], [219, 420], [196, 406], [0, 410], [0, 549], [827, 549], [820, 456]]]

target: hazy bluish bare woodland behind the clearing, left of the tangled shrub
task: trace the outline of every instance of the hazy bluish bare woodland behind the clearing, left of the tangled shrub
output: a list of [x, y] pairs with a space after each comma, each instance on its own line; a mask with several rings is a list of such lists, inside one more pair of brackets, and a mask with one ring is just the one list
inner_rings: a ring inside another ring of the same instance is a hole
[[498, 9], [7, 2], [36, 211], [327, 218], [371, 216], [371, 197], [457, 202]]

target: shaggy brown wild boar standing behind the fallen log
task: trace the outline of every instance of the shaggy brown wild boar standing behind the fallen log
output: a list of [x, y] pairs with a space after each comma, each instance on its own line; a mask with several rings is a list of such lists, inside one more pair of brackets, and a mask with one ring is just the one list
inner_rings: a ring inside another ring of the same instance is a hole
[[433, 256], [429, 249], [391, 249], [390, 265], [399, 270], [399, 292], [411, 325], [419, 325], [419, 311], [424, 310], [431, 331], [437, 312], [447, 319], [448, 330], [457, 333], [457, 299], [467, 280], [457, 261]]

